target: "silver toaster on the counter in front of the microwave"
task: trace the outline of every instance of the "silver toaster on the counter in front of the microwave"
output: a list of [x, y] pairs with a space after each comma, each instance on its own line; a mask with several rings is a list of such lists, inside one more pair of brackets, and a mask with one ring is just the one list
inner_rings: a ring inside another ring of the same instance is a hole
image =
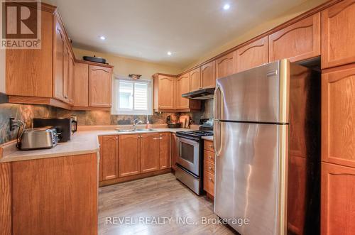
[[20, 149], [32, 150], [40, 148], [53, 148], [58, 144], [58, 133], [54, 128], [26, 129], [21, 136]]

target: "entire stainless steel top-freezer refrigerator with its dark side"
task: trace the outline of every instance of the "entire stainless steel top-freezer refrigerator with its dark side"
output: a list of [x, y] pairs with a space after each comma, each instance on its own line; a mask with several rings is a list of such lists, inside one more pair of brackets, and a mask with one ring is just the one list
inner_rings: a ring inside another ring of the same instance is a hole
[[245, 235], [320, 233], [318, 72], [279, 60], [218, 79], [214, 149], [224, 222]]

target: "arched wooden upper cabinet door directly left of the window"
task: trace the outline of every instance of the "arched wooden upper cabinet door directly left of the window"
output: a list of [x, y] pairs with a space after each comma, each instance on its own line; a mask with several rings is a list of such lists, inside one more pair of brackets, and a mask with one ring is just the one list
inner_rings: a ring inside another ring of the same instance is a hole
[[112, 71], [89, 65], [89, 106], [111, 107]]

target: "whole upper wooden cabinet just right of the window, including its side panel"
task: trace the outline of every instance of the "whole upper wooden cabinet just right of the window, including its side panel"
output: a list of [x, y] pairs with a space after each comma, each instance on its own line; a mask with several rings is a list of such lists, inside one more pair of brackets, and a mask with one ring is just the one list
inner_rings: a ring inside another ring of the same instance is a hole
[[153, 75], [154, 111], [175, 109], [176, 78], [173, 75]]

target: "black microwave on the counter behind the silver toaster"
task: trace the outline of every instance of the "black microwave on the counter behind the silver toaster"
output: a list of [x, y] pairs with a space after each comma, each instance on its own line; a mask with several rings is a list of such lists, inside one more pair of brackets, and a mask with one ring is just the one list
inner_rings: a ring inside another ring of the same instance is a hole
[[57, 129], [59, 142], [67, 142], [72, 138], [72, 134], [77, 131], [77, 121], [75, 117], [70, 119], [33, 119], [33, 127], [52, 126]]

